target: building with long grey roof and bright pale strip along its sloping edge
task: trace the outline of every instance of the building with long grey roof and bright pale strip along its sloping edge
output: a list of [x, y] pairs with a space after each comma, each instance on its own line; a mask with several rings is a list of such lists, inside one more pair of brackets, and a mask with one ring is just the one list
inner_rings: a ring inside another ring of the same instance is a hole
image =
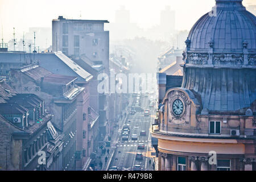
[[[95, 99], [93, 97], [94, 90], [96, 88], [95, 84], [91, 82], [93, 80], [93, 75], [81, 68], [79, 64], [71, 60], [68, 56], [64, 55], [62, 52], [55, 53], [18, 53], [18, 52], [2, 52], [0, 54], [0, 67], [2, 71], [2, 77], [9, 77], [9, 72], [11, 68], [19, 68], [26, 66], [30, 63], [36, 63], [40, 67], [47, 69], [48, 71], [77, 77], [75, 84], [84, 88], [79, 97], [77, 97], [77, 151], [76, 151], [76, 169], [82, 169], [86, 162], [89, 160], [90, 151], [93, 150], [94, 145], [97, 143], [92, 143], [88, 145], [89, 138], [84, 138], [83, 133], [89, 135], [88, 131], [88, 109], [93, 107]], [[87, 69], [86, 69], [87, 70]], [[96, 77], [97, 78], [97, 77]], [[97, 79], [96, 79], [97, 80]], [[91, 90], [93, 92], [91, 92]], [[93, 98], [92, 98], [93, 97]], [[98, 121], [94, 123], [93, 126], [97, 127]], [[94, 133], [93, 138], [97, 138], [98, 133]], [[90, 147], [88, 147], [90, 146]], [[84, 153], [82, 153], [84, 152]], [[85, 155], [82, 155], [85, 154]]]

